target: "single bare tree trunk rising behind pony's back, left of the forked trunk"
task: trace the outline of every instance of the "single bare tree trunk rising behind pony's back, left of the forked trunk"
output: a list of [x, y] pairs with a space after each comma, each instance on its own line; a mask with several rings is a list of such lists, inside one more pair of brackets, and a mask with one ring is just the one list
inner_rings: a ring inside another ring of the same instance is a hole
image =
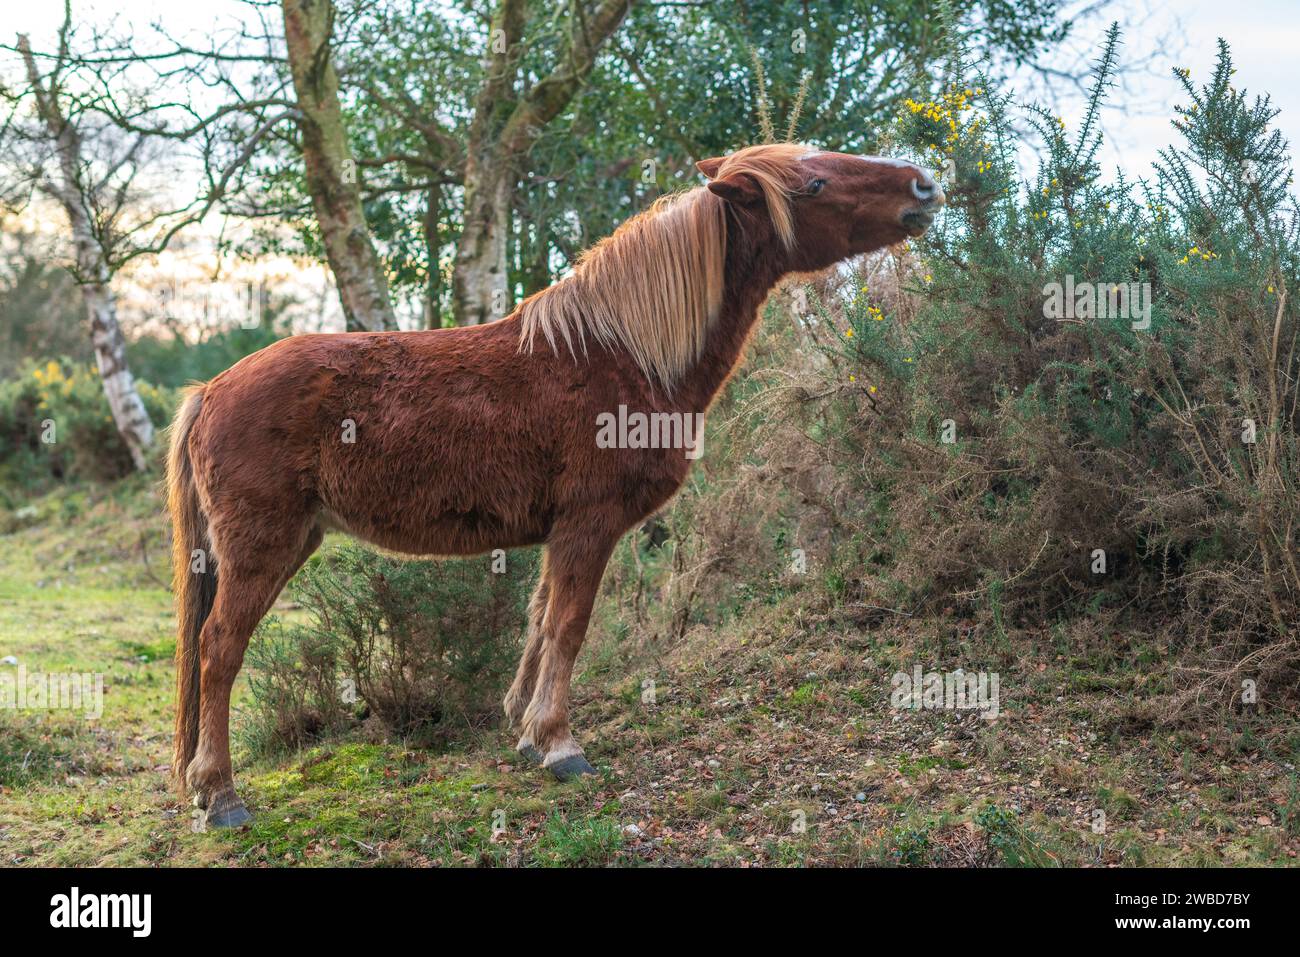
[[325, 257], [352, 330], [396, 329], [384, 265], [370, 241], [361, 187], [338, 101], [332, 0], [282, 0], [285, 46], [298, 96], [307, 191]]

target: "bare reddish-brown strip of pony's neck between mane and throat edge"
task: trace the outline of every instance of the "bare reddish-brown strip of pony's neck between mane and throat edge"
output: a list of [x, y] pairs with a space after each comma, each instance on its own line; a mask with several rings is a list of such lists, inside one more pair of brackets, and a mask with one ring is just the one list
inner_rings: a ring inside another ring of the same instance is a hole
[[766, 250], [775, 235], [762, 235], [762, 225], [738, 222], [727, 216], [727, 256], [723, 269], [723, 302], [699, 359], [673, 389], [675, 398], [696, 411], [705, 411], [741, 360], [758, 321], [758, 311], [785, 274]]

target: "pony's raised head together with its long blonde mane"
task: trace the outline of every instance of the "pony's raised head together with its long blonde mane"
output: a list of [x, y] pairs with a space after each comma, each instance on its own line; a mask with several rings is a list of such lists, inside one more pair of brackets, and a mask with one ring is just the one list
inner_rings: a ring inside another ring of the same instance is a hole
[[[766, 295], [786, 273], [920, 235], [944, 204], [939, 185], [910, 163], [794, 143], [697, 165], [707, 190], [660, 198], [520, 304], [520, 348], [532, 350], [538, 333], [573, 356], [589, 341], [621, 347], [646, 378], [672, 389], [699, 359], [729, 282]], [[733, 263], [738, 273], [725, 261], [731, 222], [750, 256]]]

